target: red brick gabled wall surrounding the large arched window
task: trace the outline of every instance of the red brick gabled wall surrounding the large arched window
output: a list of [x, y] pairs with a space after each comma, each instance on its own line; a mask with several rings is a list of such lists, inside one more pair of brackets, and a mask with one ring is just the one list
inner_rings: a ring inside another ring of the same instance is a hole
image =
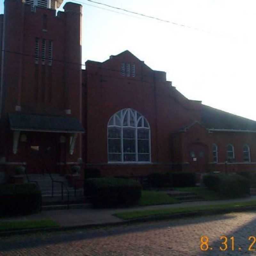
[[[122, 62], [135, 64], [135, 77], [121, 75]], [[186, 99], [166, 81], [164, 72], [150, 69], [128, 51], [103, 63], [87, 61], [86, 72], [87, 164], [108, 163], [108, 121], [119, 110], [133, 108], [149, 122], [152, 163], [169, 164], [166, 170], [170, 170], [171, 133], [194, 120], [200, 120], [200, 103]], [[106, 173], [120, 175], [133, 172], [134, 168], [134, 173], [152, 170], [152, 166], [142, 167], [140, 164], [106, 166], [99, 168], [107, 168], [109, 171]], [[156, 170], [155, 166], [153, 169]]]

